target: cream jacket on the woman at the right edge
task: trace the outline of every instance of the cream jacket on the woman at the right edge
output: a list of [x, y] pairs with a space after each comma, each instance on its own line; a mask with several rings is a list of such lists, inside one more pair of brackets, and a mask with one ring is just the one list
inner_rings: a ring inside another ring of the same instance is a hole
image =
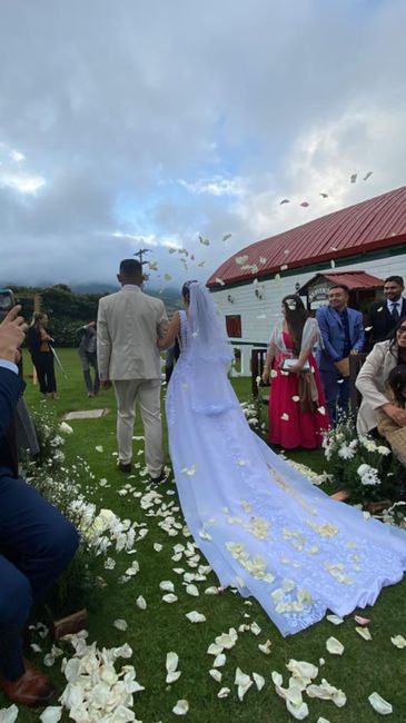
[[377, 409], [388, 403], [386, 383], [392, 369], [397, 366], [396, 347], [392, 354], [389, 345], [390, 341], [375, 344], [355, 383], [363, 395], [357, 416], [357, 432], [362, 435], [377, 426]]

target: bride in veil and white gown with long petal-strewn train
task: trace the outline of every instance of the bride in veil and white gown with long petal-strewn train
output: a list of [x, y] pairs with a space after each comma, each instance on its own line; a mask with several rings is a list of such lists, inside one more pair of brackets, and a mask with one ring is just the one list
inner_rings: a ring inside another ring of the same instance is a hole
[[406, 570], [406, 533], [336, 502], [248, 426], [208, 289], [182, 288], [164, 339], [179, 339], [167, 392], [169, 450], [188, 527], [222, 586], [254, 595], [283, 635], [373, 605]]

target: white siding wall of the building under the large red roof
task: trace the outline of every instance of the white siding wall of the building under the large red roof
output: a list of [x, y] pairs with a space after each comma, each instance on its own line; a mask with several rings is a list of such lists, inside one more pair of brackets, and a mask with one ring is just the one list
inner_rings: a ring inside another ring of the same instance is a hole
[[[349, 264], [334, 269], [326, 266], [323, 270], [325, 273], [367, 271], [382, 279], [396, 274], [403, 276], [406, 280], [406, 252], [376, 260], [366, 259], [362, 264]], [[323, 270], [318, 273], [323, 274]], [[295, 285], [297, 283], [304, 286], [314, 276], [314, 271], [308, 273], [304, 267], [303, 271], [285, 278], [266, 281], [259, 279], [258, 284], [252, 284], [252, 280], [236, 288], [224, 286], [219, 290], [216, 289], [214, 298], [219, 311], [224, 316], [231, 314], [241, 316], [241, 339], [232, 339], [234, 347], [241, 350], [241, 376], [250, 376], [251, 345], [267, 346], [274, 325], [280, 315], [280, 300], [287, 294], [296, 291]], [[263, 295], [263, 299], [256, 297], [256, 289]], [[228, 296], [231, 297], [232, 303], [227, 300]], [[244, 341], [244, 344], [239, 346], [238, 341]]]

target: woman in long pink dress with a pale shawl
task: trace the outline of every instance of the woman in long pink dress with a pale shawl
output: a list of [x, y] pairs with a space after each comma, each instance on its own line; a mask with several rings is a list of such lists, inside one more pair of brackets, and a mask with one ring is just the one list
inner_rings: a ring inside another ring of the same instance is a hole
[[269, 442], [285, 449], [321, 446], [328, 427], [325, 397], [313, 349], [321, 343], [316, 319], [299, 296], [281, 301], [283, 319], [270, 337], [263, 380], [270, 379]]

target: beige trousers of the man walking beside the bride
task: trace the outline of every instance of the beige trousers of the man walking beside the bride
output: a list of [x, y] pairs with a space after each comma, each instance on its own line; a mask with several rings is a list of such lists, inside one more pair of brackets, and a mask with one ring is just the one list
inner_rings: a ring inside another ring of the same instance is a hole
[[132, 459], [132, 434], [136, 405], [139, 402], [143, 424], [146, 465], [152, 477], [162, 472], [162, 424], [160, 414], [160, 379], [115, 382], [117, 399], [118, 458], [122, 464]]

